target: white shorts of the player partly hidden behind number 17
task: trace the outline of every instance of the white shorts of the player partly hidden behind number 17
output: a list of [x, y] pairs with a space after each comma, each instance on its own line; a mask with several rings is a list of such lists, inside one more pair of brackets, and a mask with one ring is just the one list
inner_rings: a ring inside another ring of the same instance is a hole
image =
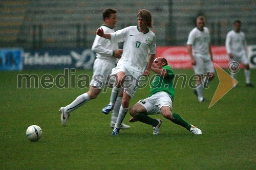
[[115, 64], [102, 59], [96, 59], [93, 65], [93, 77], [90, 86], [103, 89], [109, 83], [109, 76]]

